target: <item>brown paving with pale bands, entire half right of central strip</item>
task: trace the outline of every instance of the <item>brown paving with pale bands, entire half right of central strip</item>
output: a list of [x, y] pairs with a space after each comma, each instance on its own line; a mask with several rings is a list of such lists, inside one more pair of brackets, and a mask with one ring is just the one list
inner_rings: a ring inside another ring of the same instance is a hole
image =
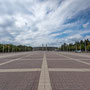
[[52, 90], [90, 90], [90, 57], [85, 54], [46, 53]]

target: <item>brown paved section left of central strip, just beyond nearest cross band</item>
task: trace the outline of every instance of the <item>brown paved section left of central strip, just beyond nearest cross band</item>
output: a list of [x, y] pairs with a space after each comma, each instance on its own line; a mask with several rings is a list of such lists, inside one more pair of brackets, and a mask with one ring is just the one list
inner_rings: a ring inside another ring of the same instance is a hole
[[41, 68], [42, 60], [18, 60], [0, 66], [0, 69]]

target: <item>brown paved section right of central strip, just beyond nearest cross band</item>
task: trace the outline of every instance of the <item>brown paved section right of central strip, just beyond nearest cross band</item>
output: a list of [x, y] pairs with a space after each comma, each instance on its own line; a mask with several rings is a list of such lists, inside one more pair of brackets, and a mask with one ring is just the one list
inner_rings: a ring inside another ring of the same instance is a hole
[[48, 60], [49, 68], [90, 68], [86, 65], [73, 60]]

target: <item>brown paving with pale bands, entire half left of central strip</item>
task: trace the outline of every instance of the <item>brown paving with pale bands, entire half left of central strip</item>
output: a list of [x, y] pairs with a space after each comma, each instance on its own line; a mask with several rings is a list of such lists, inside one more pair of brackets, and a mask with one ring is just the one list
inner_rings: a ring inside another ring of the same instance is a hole
[[38, 89], [43, 52], [1, 57], [0, 61], [0, 90]]

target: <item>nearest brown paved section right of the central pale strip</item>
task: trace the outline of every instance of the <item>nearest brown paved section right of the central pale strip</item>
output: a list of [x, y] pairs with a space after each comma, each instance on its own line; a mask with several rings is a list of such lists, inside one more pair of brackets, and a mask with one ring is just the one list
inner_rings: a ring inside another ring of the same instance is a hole
[[49, 72], [52, 90], [90, 90], [90, 72]]

